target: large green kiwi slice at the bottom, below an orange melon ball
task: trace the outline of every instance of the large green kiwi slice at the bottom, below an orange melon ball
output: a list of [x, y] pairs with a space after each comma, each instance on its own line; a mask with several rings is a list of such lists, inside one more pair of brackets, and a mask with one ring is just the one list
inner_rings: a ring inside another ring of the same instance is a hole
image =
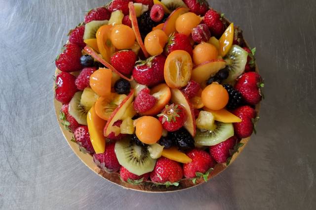
[[115, 153], [120, 165], [138, 176], [154, 170], [156, 159], [150, 157], [146, 147], [140, 147], [126, 137], [115, 143]]

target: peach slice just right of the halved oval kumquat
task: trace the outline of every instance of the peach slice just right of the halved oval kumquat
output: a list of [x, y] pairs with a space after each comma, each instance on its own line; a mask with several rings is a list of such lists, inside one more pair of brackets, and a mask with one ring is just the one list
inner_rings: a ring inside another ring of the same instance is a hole
[[199, 84], [205, 82], [211, 75], [216, 74], [226, 66], [225, 60], [210, 60], [193, 68], [192, 80]]

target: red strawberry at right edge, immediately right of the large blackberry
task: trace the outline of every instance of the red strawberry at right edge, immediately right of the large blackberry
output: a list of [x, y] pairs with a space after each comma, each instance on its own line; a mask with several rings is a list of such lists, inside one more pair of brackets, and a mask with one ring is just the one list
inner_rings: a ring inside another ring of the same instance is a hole
[[263, 80], [256, 72], [244, 73], [235, 84], [235, 89], [241, 93], [244, 101], [250, 105], [256, 105], [261, 101], [263, 87]]

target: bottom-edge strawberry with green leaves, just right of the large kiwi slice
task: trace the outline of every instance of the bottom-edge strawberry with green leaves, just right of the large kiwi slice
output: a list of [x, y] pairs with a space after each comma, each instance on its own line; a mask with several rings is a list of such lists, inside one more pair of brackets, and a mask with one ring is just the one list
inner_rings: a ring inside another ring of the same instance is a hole
[[183, 170], [180, 163], [166, 157], [160, 157], [155, 165], [154, 171], [150, 173], [153, 182], [167, 185], [178, 185], [177, 181], [183, 177]]

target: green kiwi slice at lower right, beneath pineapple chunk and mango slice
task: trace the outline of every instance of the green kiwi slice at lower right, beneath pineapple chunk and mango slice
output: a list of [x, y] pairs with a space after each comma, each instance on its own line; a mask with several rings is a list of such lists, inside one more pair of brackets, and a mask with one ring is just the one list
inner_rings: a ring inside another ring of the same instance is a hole
[[216, 129], [210, 130], [199, 130], [197, 129], [197, 134], [194, 137], [196, 146], [213, 146], [226, 139], [234, 136], [233, 123], [224, 123], [216, 121]]

